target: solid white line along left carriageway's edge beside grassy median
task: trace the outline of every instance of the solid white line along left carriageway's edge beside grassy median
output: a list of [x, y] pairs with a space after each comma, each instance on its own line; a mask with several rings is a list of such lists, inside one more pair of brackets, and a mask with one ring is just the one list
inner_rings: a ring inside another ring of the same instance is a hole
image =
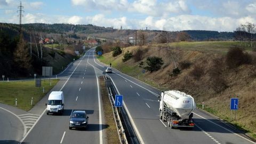
[[[87, 59], [87, 63], [89, 63], [89, 57]], [[89, 65], [91, 65], [91, 63], [89, 63]], [[103, 143], [102, 141], [102, 119], [101, 119], [101, 99], [100, 99], [100, 86], [99, 86], [99, 80], [98, 80], [98, 76], [97, 73], [95, 71], [95, 68], [93, 65], [91, 65], [94, 69], [94, 73], [97, 79], [97, 86], [98, 86], [98, 103], [99, 103], [99, 125], [100, 125], [100, 144]]]

